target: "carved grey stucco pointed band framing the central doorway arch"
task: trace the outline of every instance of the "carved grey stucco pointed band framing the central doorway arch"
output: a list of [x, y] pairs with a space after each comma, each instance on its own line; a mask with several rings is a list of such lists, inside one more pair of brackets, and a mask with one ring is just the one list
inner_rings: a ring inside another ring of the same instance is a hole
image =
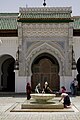
[[47, 52], [50, 53], [52, 55], [54, 55], [60, 65], [60, 74], [63, 74], [63, 64], [64, 64], [64, 55], [63, 53], [61, 53], [59, 50], [56, 50], [55, 48], [53, 48], [51, 45], [49, 45], [48, 43], [43, 43], [42, 45], [34, 48], [28, 55], [26, 55], [26, 74], [30, 75], [31, 74], [31, 64], [32, 61], [35, 59], [35, 57], [37, 57], [39, 54], [43, 53], [43, 52]]

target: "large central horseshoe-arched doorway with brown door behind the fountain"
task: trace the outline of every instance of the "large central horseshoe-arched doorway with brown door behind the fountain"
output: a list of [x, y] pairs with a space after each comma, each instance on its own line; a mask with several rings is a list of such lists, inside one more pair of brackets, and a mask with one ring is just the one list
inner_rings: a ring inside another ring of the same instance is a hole
[[45, 81], [52, 90], [59, 90], [59, 64], [56, 58], [48, 53], [40, 54], [32, 63], [32, 90], [34, 91], [38, 83], [41, 83], [42, 89]]

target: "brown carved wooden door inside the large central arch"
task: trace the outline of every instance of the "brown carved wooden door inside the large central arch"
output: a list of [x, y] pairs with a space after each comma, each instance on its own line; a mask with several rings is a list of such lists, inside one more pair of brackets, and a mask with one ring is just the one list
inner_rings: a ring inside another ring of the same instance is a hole
[[32, 89], [40, 83], [43, 89], [44, 83], [48, 82], [52, 90], [59, 90], [58, 65], [53, 64], [49, 59], [41, 59], [38, 64], [33, 65], [33, 74], [31, 79]]

